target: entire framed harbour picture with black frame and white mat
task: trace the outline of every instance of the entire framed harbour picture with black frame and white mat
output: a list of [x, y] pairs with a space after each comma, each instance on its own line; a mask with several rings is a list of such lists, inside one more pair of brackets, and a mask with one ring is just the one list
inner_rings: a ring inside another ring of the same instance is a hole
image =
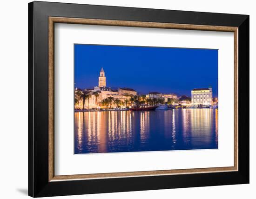
[[249, 16], [28, 4], [28, 194], [249, 183]]

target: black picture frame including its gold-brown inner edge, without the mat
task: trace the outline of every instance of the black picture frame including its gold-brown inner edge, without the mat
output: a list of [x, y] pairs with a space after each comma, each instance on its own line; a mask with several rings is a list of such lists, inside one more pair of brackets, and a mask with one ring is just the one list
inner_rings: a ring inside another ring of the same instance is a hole
[[[54, 23], [234, 32], [234, 167], [54, 176]], [[248, 15], [31, 2], [28, 60], [29, 196], [249, 183]]]

